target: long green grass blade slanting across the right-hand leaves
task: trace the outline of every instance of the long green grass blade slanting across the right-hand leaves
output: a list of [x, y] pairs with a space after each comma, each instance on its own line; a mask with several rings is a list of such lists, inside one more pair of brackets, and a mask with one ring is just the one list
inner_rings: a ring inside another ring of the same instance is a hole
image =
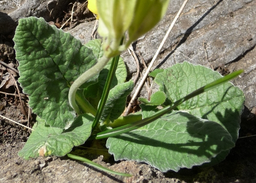
[[195, 96], [197, 96], [201, 93], [209, 91], [213, 88], [216, 88], [219, 85], [221, 85], [221, 84], [233, 79], [234, 77], [238, 76], [242, 72], [243, 72], [243, 70], [238, 70], [238, 71], [232, 72], [231, 74], [228, 74], [228, 75], [222, 77], [219, 80], [211, 82], [211, 83], [205, 85], [204, 87], [201, 87], [201, 88], [195, 90], [194, 92], [191, 92], [190, 94], [186, 95], [185, 97], [183, 97], [183, 98], [177, 100], [176, 102], [170, 104], [169, 106], [163, 108], [162, 110], [156, 112], [155, 114], [153, 114], [150, 117], [144, 118], [140, 121], [137, 121], [137, 122], [134, 122], [134, 123], [131, 123], [131, 124], [127, 124], [127, 125], [124, 125], [124, 126], [121, 126], [121, 127], [105, 130], [104, 132], [101, 132], [101, 133], [98, 133], [98, 134], [95, 134], [95, 135], [91, 136], [89, 139], [93, 140], [93, 139], [109, 138], [109, 137], [113, 137], [113, 136], [121, 135], [123, 133], [130, 132], [134, 129], [137, 129], [137, 128], [142, 127], [146, 124], [149, 124], [149, 123], [155, 121], [156, 119], [160, 118], [164, 114], [172, 111], [173, 109], [175, 109], [177, 106], [179, 106], [184, 101], [186, 101], [190, 98], [193, 98], [193, 97], [195, 97]]

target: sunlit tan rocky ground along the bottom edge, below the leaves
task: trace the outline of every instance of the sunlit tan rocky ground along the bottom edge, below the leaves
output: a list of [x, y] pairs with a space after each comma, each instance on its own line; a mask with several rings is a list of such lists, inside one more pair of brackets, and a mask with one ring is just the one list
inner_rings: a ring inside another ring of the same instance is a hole
[[[95, 163], [118, 172], [130, 173], [132, 177], [123, 177], [102, 173], [82, 162], [67, 158], [37, 158], [24, 160], [16, 155], [24, 144], [1, 144], [0, 152], [0, 182], [178, 182], [176, 178], [165, 178], [163, 173], [146, 164], [136, 162], [121, 162], [119, 164], [106, 164], [100, 155]], [[12, 152], [9, 154], [9, 152]]]

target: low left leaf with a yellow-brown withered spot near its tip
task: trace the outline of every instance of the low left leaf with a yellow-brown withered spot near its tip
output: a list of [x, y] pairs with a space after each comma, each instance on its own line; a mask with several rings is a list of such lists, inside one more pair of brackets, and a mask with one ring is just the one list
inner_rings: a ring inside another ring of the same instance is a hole
[[33, 132], [18, 155], [25, 159], [36, 158], [39, 155], [66, 155], [74, 146], [83, 144], [90, 137], [92, 122], [92, 115], [83, 114], [78, 116], [68, 129], [62, 130], [50, 127], [38, 118], [38, 122], [33, 126]]

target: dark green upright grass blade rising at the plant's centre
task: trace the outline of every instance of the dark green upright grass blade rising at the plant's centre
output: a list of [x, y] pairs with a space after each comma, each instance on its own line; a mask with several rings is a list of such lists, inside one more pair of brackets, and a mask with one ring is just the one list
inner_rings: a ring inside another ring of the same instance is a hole
[[102, 96], [101, 96], [100, 101], [99, 101], [98, 110], [97, 110], [97, 113], [96, 113], [95, 118], [93, 120], [92, 132], [95, 129], [95, 127], [97, 126], [97, 124], [100, 120], [101, 114], [103, 112], [103, 109], [104, 109], [104, 106], [105, 106], [105, 103], [106, 103], [106, 99], [108, 98], [108, 95], [109, 95], [109, 92], [110, 92], [110, 87], [111, 87], [112, 81], [113, 81], [115, 73], [116, 73], [119, 57], [120, 57], [120, 55], [118, 55], [118, 56], [116, 56], [112, 59], [111, 66], [110, 66], [110, 71], [108, 73], [108, 77], [106, 78], [106, 83], [105, 83], [105, 86], [104, 86], [104, 89], [103, 89], [103, 93], [102, 93]]

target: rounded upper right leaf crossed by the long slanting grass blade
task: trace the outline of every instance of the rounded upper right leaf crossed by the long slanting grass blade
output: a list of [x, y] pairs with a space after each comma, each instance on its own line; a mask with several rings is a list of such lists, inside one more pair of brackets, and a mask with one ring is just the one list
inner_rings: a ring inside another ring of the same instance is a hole
[[[155, 82], [166, 93], [166, 104], [169, 104], [221, 77], [219, 72], [184, 62], [159, 73]], [[236, 142], [244, 99], [242, 90], [228, 82], [183, 102], [178, 110], [220, 123]]]

